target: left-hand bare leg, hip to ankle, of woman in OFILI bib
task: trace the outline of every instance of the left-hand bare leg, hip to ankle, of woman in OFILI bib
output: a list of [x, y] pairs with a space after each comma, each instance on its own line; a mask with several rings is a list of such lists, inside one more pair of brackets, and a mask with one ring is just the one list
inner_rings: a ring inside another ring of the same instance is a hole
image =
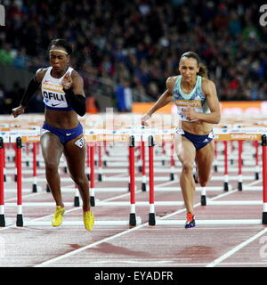
[[61, 197], [61, 178], [58, 172], [63, 145], [57, 135], [46, 132], [41, 136], [41, 147], [45, 164], [47, 183], [57, 206], [64, 208]]

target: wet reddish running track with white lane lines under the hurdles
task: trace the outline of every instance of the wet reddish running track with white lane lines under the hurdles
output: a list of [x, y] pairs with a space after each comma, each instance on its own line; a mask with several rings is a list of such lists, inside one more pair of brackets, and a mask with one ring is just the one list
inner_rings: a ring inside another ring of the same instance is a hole
[[[166, 168], [169, 166], [166, 165]], [[115, 167], [114, 167], [115, 168]], [[161, 167], [164, 168], [164, 167]], [[245, 168], [245, 167], [244, 167]], [[155, 167], [156, 169], [156, 167]], [[127, 174], [110, 174], [113, 177], [127, 177]], [[166, 191], [155, 191], [156, 201], [182, 201], [181, 191], [168, 191], [179, 186], [177, 180], [168, 181], [169, 175], [157, 173], [155, 177], [166, 175], [165, 182], [155, 182]], [[246, 172], [246, 175], [254, 175]], [[31, 188], [25, 181], [22, 188]], [[68, 175], [62, 172], [61, 177]], [[106, 175], [108, 176], [108, 175]], [[138, 173], [137, 176], [141, 176]], [[209, 186], [222, 185], [223, 173], [214, 173], [221, 181], [212, 181]], [[244, 174], [245, 176], [245, 174]], [[44, 175], [38, 175], [38, 178]], [[175, 175], [177, 179], [177, 175]], [[207, 191], [207, 199], [220, 200], [261, 200], [262, 191], [238, 191], [237, 182], [231, 182], [231, 191]], [[262, 180], [246, 180], [244, 186], [260, 186]], [[149, 191], [142, 191], [142, 183], [136, 182], [136, 201], [148, 201]], [[8, 175], [4, 183], [5, 204], [16, 202], [16, 193], [9, 192], [16, 183]], [[23, 193], [23, 203], [53, 202], [51, 193], [45, 191], [46, 184], [38, 182], [43, 191]], [[72, 183], [63, 182], [62, 186], [73, 187]], [[129, 201], [129, 192], [98, 192], [99, 187], [127, 187], [125, 182], [96, 182], [95, 199]], [[74, 187], [73, 187], [74, 188]], [[63, 192], [63, 198], [73, 201], [73, 193]], [[182, 224], [150, 226], [149, 206], [137, 206], [136, 215], [142, 218], [142, 224], [129, 228], [127, 225], [96, 225], [92, 232], [86, 232], [83, 226], [23, 226], [17, 227], [16, 208], [5, 207], [7, 225], [0, 228], [1, 248], [0, 266], [11, 267], [265, 267], [267, 266], [267, 227], [259, 224], [198, 224], [200, 220], [261, 219], [262, 205], [239, 206], [201, 206], [200, 192], [195, 195], [195, 213], [197, 226], [185, 230]], [[156, 215], [165, 219], [181, 220], [185, 218], [185, 209], [181, 206], [155, 206]], [[23, 207], [26, 220], [41, 219], [51, 221], [52, 207]], [[128, 219], [129, 207], [95, 207], [96, 220]], [[82, 221], [80, 207], [67, 207], [66, 221]]]

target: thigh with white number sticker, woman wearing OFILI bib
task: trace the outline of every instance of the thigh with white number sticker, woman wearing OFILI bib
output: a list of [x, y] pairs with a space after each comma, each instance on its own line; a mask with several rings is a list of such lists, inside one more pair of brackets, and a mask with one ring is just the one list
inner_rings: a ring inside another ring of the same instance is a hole
[[64, 155], [71, 175], [77, 176], [85, 173], [85, 151], [83, 134], [65, 144]]

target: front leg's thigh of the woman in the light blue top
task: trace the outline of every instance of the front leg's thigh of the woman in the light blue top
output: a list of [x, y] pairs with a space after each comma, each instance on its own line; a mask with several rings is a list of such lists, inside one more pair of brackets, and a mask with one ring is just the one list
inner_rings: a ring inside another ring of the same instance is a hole
[[181, 134], [174, 134], [174, 146], [181, 163], [193, 165], [196, 157], [196, 148], [194, 144]]

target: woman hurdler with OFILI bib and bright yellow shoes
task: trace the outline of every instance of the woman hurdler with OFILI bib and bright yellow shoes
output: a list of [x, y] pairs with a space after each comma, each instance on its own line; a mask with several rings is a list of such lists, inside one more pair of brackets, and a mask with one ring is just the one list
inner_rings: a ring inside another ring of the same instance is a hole
[[85, 141], [83, 126], [77, 114], [85, 115], [85, 92], [82, 77], [69, 67], [72, 46], [64, 39], [55, 39], [49, 46], [51, 67], [38, 69], [22, 97], [20, 106], [12, 110], [14, 118], [24, 113], [28, 101], [41, 85], [44, 97], [44, 125], [41, 129], [41, 146], [47, 183], [56, 202], [53, 226], [62, 223], [65, 212], [61, 197], [61, 178], [58, 173], [64, 153], [69, 174], [77, 183], [83, 199], [84, 224], [93, 229], [93, 212], [90, 205], [89, 183], [85, 175]]

